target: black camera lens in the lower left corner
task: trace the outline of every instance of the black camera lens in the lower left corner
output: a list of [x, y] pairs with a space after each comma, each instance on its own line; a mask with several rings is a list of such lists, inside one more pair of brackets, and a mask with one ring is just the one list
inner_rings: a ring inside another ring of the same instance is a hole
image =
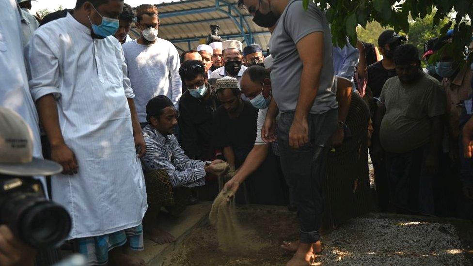
[[71, 217], [64, 207], [32, 193], [11, 194], [1, 208], [1, 218], [36, 248], [59, 247], [71, 230]]

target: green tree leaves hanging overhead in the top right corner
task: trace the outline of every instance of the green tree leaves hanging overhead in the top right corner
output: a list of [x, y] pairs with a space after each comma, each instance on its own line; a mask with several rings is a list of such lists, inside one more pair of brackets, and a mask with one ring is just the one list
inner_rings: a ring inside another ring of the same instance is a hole
[[[307, 8], [309, 0], [303, 0]], [[410, 19], [417, 21], [435, 13], [431, 28], [440, 29], [441, 34], [454, 25], [455, 38], [450, 48], [464, 47], [472, 41], [473, 18], [472, 0], [314, 0], [322, 10], [327, 10], [331, 24], [332, 42], [340, 47], [348, 39], [352, 45], [357, 39], [356, 27], [366, 28], [371, 22], [378, 22], [381, 27], [393, 28], [395, 31], [410, 32]], [[450, 14], [455, 17], [449, 18]], [[441, 21], [448, 19], [443, 27]], [[460, 50], [460, 49], [456, 49]]]

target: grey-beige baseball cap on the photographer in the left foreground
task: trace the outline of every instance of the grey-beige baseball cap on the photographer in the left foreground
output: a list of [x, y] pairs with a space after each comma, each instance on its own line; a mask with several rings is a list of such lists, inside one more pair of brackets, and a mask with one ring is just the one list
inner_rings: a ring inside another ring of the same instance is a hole
[[19, 114], [0, 107], [0, 173], [32, 176], [63, 171], [56, 162], [33, 157], [32, 136], [31, 128]]

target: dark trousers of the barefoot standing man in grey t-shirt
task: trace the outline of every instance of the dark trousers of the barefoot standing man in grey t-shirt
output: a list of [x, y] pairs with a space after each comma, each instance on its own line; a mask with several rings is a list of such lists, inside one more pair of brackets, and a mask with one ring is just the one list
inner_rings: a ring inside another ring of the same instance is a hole
[[281, 167], [290, 187], [295, 190], [301, 243], [315, 243], [320, 238], [324, 206], [322, 188], [327, 177], [326, 143], [337, 127], [337, 118], [336, 109], [323, 114], [309, 114], [309, 142], [299, 149], [289, 146], [294, 112], [282, 113], [278, 123]]

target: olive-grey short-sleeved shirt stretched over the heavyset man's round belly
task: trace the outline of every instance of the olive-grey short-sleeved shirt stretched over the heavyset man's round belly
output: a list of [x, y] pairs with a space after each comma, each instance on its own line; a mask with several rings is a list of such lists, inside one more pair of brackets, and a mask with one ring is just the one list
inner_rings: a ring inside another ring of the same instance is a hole
[[430, 119], [445, 113], [445, 93], [440, 82], [422, 73], [416, 84], [404, 86], [399, 78], [384, 84], [379, 102], [386, 107], [379, 138], [388, 152], [405, 153], [430, 141]]

